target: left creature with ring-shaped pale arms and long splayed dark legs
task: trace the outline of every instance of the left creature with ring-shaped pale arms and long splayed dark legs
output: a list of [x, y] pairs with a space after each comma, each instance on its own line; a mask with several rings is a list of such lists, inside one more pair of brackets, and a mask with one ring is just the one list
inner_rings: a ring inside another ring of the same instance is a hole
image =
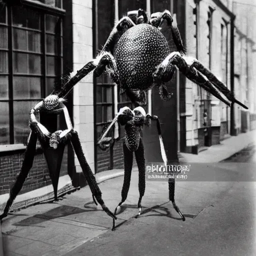
[[[98, 202], [101, 205], [102, 209], [109, 216], [111, 216], [113, 219], [116, 219], [114, 214], [105, 206], [104, 201], [101, 198], [101, 191], [85, 159], [78, 137], [78, 133], [72, 127], [67, 108], [63, 104], [63, 101], [63, 98], [59, 98], [57, 95], [52, 94], [47, 96], [39, 103], [37, 103], [30, 110], [29, 126], [31, 131], [28, 137], [21, 170], [16, 178], [13, 187], [10, 190], [10, 196], [6, 202], [3, 213], [0, 215], [0, 219], [7, 216], [13, 200], [22, 188], [22, 185], [28, 175], [28, 172], [32, 167], [37, 138], [40, 141], [48, 165], [55, 200], [57, 200], [57, 185], [64, 147], [68, 141], [71, 141], [74, 152], [82, 168], [82, 172], [90, 187], [94, 203], [97, 205]], [[45, 127], [46, 124], [43, 125], [37, 120], [36, 116], [40, 112], [46, 112], [46, 114], [60, 114], [61, 112], [63, 112], [65, 117], [66, 129], [49, 132], [49, 130]]]

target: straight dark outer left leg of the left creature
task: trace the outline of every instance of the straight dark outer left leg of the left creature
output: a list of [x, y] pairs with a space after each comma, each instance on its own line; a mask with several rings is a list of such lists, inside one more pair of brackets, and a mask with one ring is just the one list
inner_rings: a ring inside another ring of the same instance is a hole
[[7, 216], [13, 200], [16, 198], [18, 192], [22, 188], [22, 185], [27, 177], [27, 174], [32, 167], [35, 146], [36, 146], [36, 140], [37, 140], [36, 133], [33, 131], [30, 131], [21, 169], [19, 171], [19, 174], [16, 178], [16, 181], [15, 181], [13, 187], [10, 189], [10, 196], [6, 202], [3, 213], [0, 215], [0, 219]]

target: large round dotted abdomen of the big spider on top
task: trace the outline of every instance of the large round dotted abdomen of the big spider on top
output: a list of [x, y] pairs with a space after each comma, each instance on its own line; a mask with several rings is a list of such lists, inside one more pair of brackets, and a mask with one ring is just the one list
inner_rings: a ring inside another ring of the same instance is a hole
[[154, 26], [138, 24], [125, 31], [113, 52], [123, 89], [148, 89], [155, 67], [169, 53], [165, 37]]

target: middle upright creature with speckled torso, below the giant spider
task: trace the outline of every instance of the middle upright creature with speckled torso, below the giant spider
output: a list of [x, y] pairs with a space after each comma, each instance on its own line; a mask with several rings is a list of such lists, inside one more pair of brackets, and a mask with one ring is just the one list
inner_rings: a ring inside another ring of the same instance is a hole
[[[157, 123], [157, 131], [160, 142], [160, 150], [162, 160], [164, 165], [167, 165], [167, 157], [164, 150], [164, 145], [161, 137], [161, 126], [159, 119], [156, 115], [146, 114], [145, 110], [141, 107], [135, 107], [131, 110], [129, 107], [122, 107], [119, 112], [116, 114], [115, 118], [109, 124], [107, 129], [100, 136], [97, 145], [105, 150], [110, 145], [113, 146], [115, 140], [112, 140], [112, 137], [106, 137], [108, 131], [114, 125], [116, 121], [119, 122], [120, 125], [124, 125], [124, 141], [123, 141], [123, 158], [124, 158], [124, 177], [123, 177], [123, 185], [121, 191], [121, 201], [115, 208], [114, 214], [118, 211], [120, 205], [126, 200], [129, 185], [130, 185], [130, 177], [131, 177], [131, 169], [132, 169], [132, 161], [133, 161], [133, 152], [135, 154], [137, 166], [138, 166], [138, 190], [139, 190], [139, 199], [138, 199], [138, 214], [139, 216], [141, 212], [141, 199], [144, 195], [145, 191], [145, 156], [144, 156], [144, 146], [141, 138], [141, 131], [144, 125], [149, 125], [150, 120], [155, 120]], [[182, 220], [185, 220], [183, 214], [180, 212], [174, 201], [174, 179], [169, 180], [169, 199], [172, 202], [174, 209], [179, 213]], [[113, 219], [113, 227], [114, 229], [114, 219]]]

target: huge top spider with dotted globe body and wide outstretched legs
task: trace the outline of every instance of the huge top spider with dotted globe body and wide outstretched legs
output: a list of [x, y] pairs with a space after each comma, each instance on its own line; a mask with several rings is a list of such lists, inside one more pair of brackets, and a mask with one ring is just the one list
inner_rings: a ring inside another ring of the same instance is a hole
[[[160, 31], [166, 21], [170, 28], [177, 51], [171, 52], [167, 40]], [[204, 67], [196, 58], [185, 56], [185, 49], [178, 28], [172, 25], [173, 18], [168, 10], [152, 13], [148, 20], [144, 10], [129, 11], [113, 27], [99, 55], [89, 61], [76, 75], [71, 77], [55, 92], [66, 93], [83, 76], [94, 70], [96, 76], [106, 71], [137, 105], [146, 103], [145, 91], [153, 86], [159, 88], [162, 99], [170, 98], [165, 83], [174, 72], [175, 66], [191, 81], [229, 105], [238, 103], [227, 86]]]

